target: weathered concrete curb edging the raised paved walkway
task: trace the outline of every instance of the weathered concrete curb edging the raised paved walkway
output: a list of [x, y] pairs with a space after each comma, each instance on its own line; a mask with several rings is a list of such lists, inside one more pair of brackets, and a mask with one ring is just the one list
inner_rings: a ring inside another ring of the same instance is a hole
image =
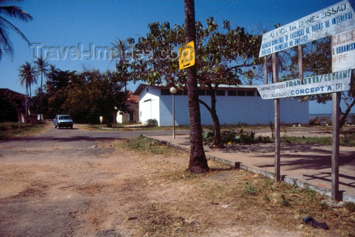
[[[149, 136], [147, 136], [147, 137], [149, 137]], [[153, 137], [149, 137], [149, 138], [151, 138], [153, 140], [156, 140], [160, 144], [167, 145], [169, 147], [180, 149], [180, 150], [183, 150], [183, 151], [186, 151], [186, 152], [190, 152], [190, 149], [187, 148], [187, 147], [184, 147], [184, 146], [181, 146], [181, 145], [177, 145], [177, 144], [173, 144], [173, 143], [170, 143], [169, 141], [166, 141], [166, 140], [159, 140], [159, 139], [156, 139], [156, 138], [153, 138]], [[261, 174], [261, 175], [263, 175], [265, 177], [268, 177], [268, 178], [274, 178], [274, 174], [272, 172], [269, 172], [269, 171], [264, 170], [262, 168], [259, 168], [259, 167], [256, 167], [256, 166], [252, 166], [252, 165], [245, 165], [245, 164], [243, 164], [241, 162], [237, 162], [237, 161], [226, 160], [226, 159], [219, 158], [219, 157], [216, 157], [216, 156], [213, 156], [213, 155], [209, 155], [209, 154], [205, 154], [205, 155], [206, 155], [206, 158], [208, 158], [210, 160], [215, 160], [215, 161], [221, 162], [223, 164], [233, 166], [233, 167], [235, 167], [237, 169], [244, 169], [244, 170], [248, 170], [248, 171], [251, 171], [251, 172], [254, 172], [254, 173], [258, 173], [258, 174]], [[297, 186], [297, 187], [301, 187], [301, 188], [310, 188], [310, 189], [312, 189], [312, 190], [314, 190], [314, 191], [316, 191], [316, 192], [318, 192], [320, 194], [326, 195], [328, 197], [332, 197], [332, 191], [329, 188], [317, 186], [317, 185], [308, 183], [306, 181], [299, 180], [298, 178], [289, 177], [287, 175], [281, 175], [281, 180], [284, 181], [284, 182], [287, 182], [287, 183], [289, 183], [289, 184], [291, 184], [293, 186]], [[341, 193], [340, 194], [340, 198], [341, 198], [341, 200], [343, 202], [355, 203], [355, 197], [354, 196]]]

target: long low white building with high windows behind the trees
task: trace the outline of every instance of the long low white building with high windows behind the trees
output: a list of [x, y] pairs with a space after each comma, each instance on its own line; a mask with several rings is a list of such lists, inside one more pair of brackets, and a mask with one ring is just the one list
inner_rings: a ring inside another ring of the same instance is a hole
[[[209, 91], [199, 88], [199, 99], [210, 105]], [[133, 93], [139, 96], [139, 121], [156, 119], [159, 126], [172, 126], [172, 96], [167, 86], [140, 84]], [[175, 125], [188, 125], [187, 88], [177, 91]], [[221, 124], [269, 124], [274, 121], [273, 100], [263, 100], [257, 89], [249, 85], [219, 86], [216, 110]], [[200, 104], [201, 124], [212, 125], [208, 110]], [[294, 98], [280, 99], [280, 122], [308, 124], [308, 102]]]

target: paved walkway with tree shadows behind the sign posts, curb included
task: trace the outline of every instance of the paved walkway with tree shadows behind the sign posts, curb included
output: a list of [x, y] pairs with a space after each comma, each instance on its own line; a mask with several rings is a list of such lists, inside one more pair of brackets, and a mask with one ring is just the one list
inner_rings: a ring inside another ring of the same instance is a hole
[[[188, 135], [151, 136], [169, 146], [190, 152]], [[272, 177], [275, 172], [274, 144], [233, 144], [225, 149], [204, 147], [206, 157]], [[355, 148], [340, 147], [339, 192], [345, 202], [355, 202]], [[281, 144], [282, 179], [310, 187], [331, 197], [331, 146]]]

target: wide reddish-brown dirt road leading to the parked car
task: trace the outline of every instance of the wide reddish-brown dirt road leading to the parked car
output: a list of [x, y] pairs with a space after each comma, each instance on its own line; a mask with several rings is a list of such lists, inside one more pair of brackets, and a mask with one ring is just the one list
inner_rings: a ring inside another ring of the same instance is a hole
[[110, 224], [141, 197], [142, 160], [110, 145], [127, 134], [75, 128], [0, 143], [0, 236], [118, 235]]

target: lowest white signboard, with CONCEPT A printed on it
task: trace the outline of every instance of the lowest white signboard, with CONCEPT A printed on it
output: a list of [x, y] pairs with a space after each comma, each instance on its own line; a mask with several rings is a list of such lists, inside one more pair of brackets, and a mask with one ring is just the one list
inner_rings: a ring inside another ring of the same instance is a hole
[[[310, 94], [331, 93], [350, 89], [351, 70], [319, 76], [258, 85], [262, 99], [309, 96]], [[303, 82], [303, 83], [302, 83]]]

